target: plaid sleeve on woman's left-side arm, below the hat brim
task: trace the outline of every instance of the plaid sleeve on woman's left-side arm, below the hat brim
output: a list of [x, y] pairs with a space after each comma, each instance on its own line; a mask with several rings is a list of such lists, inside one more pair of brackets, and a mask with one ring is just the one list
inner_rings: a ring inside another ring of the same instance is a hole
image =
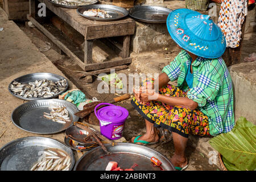
[[180, 64], [181, 59], [180, 56], [183, 52], [180, 52], [169, 65], [165, 66], [162, 70], [162, 73], [166, 73], [166, 75], [170, 78], [170, 81], [177, 80], [180, 74]]

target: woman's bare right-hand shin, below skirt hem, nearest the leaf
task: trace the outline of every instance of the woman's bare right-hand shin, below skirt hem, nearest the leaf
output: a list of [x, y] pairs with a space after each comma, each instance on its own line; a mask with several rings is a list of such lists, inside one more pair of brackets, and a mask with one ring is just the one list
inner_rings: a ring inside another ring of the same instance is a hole
[[174, 155], [171, 158], [172, 164], [176, 167], [185, 167], [188, 163], [185, 157], [185, 148], [187, 146], [188, 138], [172, 132], [172, 139], [174, 141]]

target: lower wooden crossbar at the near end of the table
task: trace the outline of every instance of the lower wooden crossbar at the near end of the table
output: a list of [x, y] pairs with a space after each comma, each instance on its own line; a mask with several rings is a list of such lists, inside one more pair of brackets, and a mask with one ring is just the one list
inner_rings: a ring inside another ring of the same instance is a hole
[[113, 61], [105, 61], [102, 63], [86, 64], [84, 67], [84, 70], [85, 71], [98, 70], [98, 69], [110, 68], [110, 67], [115, 67], [118, 65], [130, 64], [130, 63], [131, 63], [131, 57], [127, 57], [127, 58], [121, 59], [121, 60], [113, 60]]

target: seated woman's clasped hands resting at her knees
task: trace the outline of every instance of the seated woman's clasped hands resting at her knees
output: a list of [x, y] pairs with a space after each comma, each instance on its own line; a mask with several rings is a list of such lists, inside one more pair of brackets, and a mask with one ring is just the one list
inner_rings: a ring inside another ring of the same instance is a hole
[[140, 89], [141, 92], [141, 102], [142, 104], [146, 104], [146, 102], [155, 101], [158, 99], [159, 93], [156, 93], [152, 88], [147, 88], [146, 86], [142, 86]]

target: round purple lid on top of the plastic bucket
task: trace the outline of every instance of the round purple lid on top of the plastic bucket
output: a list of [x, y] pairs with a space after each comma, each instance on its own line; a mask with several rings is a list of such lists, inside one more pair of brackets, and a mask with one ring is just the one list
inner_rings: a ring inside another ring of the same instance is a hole
[[97, 118], [108, 122], [124, 121], [128, 115], [129, 111], [121, 106], [105, 106], [97, 111]]

